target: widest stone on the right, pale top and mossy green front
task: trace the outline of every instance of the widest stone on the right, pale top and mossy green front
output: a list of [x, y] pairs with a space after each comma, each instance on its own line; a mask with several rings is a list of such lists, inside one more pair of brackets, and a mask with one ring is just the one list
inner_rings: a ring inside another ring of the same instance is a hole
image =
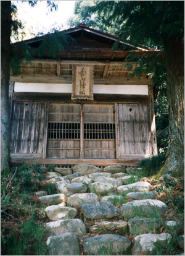
[[160, 200], [144, 199], [125, 203], [120, 208], [124, 218], [160, 218], [168, 207]]

